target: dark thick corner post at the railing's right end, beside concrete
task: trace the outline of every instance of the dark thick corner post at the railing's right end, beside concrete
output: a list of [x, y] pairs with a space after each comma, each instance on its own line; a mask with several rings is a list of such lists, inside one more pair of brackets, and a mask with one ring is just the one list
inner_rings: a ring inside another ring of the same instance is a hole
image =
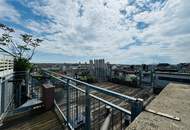
[[143, 110], [143, 100], [137, 99], [131, 106], [131, 121], [133, 121]]

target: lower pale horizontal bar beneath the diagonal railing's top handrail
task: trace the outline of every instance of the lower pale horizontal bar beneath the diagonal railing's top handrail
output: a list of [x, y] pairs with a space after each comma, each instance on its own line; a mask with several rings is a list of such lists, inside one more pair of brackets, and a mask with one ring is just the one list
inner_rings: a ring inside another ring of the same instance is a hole
[[[60, 79], [60, 78], [58, 78], [58, 77], [56, 77], [56, 76], [53, 76], [53, 75], [51, 75], [51, 76], [52, 76], [53, 78], [57, 79], [57, 80], [60, 80], [60, 81], [62, 81], [62, 82], [64, 82], [64, 83], [66, 83], [66, 81], [64, 81], [63, 79]], [[77, 90], [79, 90], [79, 91], [85, 93], [85, 91], [84, 91], [83, 89], [78, 88], [78, 87], [76, 87], [76, 86], [73, 85], [73, 84], [69, 84], [69, 86], [71, 86], [71, 87], [73, 87], [73, 88], [75, 88], [75, 89], [77, 89]], [[118, 109], [118, 110], [120, 110], [120, 111], [122, 111], [122, 112], [124, 112], [124, 113], [126, 113], [126, 114], [128, 114], [128, 115], [131, 115], [131, 112], [130, 112], [130, 111], [128, 111], [128, 110], [126, 110], [126, 109], [124, 109], [124, 108], [122, 108], [122, 107], [120, 107], [120, 106], [117, 106], [117, 105], [115, 105], [115, 104], [113, 104], [113, 103], [111, 103], [111, 102], [108, 102], [108, 101], [106, 101], [106, 100], [104, 100], [104, 99], [102, 99], [102, 98], [100, 98], [100, 97], [97, 97], [97, 96], [95, 96], [95, 95], [93, 95], [93, 94], [90, 94], [90, 96], [93, 97], [93, 98], [95, 98], [95, 99], [97, 99], [97, 100], [100, 100], [101, 102], [103, 102], [103, 103], [105, 103], [105, 104], [107, 104], [107, 105], [109, 105], [109, 106], [111, 106], [111, 107], [114, 107], [114, 108], [116, 108], [116, 109]]]

